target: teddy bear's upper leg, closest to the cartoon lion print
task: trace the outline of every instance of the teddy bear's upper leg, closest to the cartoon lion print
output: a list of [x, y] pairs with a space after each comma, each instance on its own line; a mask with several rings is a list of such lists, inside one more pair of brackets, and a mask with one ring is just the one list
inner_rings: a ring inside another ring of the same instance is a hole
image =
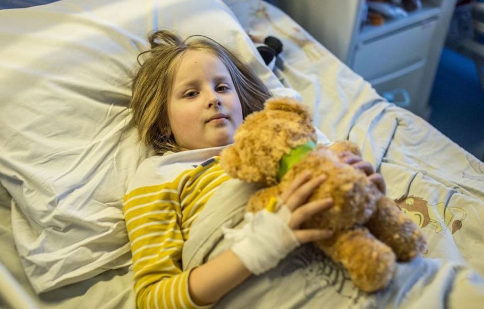
[[388, 197], [378, 200], [377, 210], [367, 226], [375, 237], [393, 249], [399, 261], [409, 261], [426, 249], [419, 227]]

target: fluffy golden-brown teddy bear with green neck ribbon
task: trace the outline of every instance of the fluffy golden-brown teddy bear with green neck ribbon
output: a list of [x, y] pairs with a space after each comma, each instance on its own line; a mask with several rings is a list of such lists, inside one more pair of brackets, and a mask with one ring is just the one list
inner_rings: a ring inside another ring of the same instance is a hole
[[291, 98], [271, 98], [264, 109], [247, 116], [233, 144], [220, 154], [222, 168], [233, 178], [258, 184], [247, 211], [257, 212], [308, 170], [326, 175], [309, 201], [331, 197], [333, 207], [306, 221], [302, 228], [330, 229], [330, 238], [315, 245], [341, 263], [356, 287], [374, 292], [390, 282], [396, 261], [410, 261], [426, 248], [417, 225], [396, 203], [368, 180], [365, 172], [342, 162], [338, 153], [361, 156], [356, 144], [316, 144], [309, 110]]

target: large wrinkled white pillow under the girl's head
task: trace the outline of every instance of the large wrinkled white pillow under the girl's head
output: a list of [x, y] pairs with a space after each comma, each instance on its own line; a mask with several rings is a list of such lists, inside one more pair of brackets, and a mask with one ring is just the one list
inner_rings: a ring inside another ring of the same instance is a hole
[[203, 34], [281, 87], [216, 0], [63, 0], [0, 11], [0, 181], [37, 293], [131, 263], [122, 215], [148, 150], [127, 105], [153, 28]]

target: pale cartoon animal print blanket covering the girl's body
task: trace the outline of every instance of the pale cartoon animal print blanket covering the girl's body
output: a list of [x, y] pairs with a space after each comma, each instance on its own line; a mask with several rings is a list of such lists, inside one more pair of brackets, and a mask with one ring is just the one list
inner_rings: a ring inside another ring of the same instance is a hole
[[[355, 119], [349, 138], [383, 174], [388, 195], [426, 234], [425, 258], [399, 263], [386, 289], [367, 294], [353, 285], [341, 265], [307, 244], [276, 268], [249, 278], [215, 307], [437, 308], [476, 307], [484, 301], [484, 265], [478, 260], [484, 254], [484, 190], [482, 175], [474, 169], [479, 161], [417, 116], [383, 102]], [[446, 154], [439, 155], [444, 146]], [[455, 160], [459, 163], [451, 164]], [[244, 224], [245, 205], [256, 190], [235, 179], [220, 187], [192, 226], [184, 269], [229, 248], [220, 228]]]

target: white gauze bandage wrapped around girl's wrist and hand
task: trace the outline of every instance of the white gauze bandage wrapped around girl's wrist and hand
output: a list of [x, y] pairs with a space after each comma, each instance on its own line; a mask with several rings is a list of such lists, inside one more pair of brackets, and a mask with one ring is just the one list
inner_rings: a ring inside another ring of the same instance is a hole
[[241, 229], [222, 227], [225, 239], [233, 242], [232, 251], [251, 273], [259, 275], [274, 268], [300, 245], [287, 225], [290, 215], [282, 205], [277, 213], [265, 209], [245, 214], [246, 224]]

